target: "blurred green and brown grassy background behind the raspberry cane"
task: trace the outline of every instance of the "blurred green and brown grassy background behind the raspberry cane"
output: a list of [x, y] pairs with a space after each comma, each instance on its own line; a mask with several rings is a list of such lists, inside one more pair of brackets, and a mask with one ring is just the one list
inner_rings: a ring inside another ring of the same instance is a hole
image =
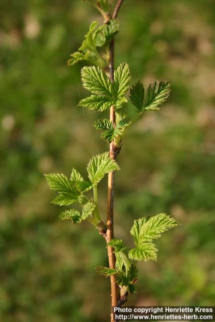
[[[115, 236], [129, 246], [135, 218], [167, 212], [181, 226], [157, 242], [157, 262], [139, 263], [129, 305], [212, 305], [214, 267], [215, 68], [213, 0], [125, 1], [116, 65], [132, 83], [172, 82], [160, 112], [128, 131], [118, 157]], [[109, 280], [104, 240], [88, 223], [60, 221], [43, 173], [86, 175], [107, 150], [77, 107], [87, 92], [81, 64], [66, 61], [99, 14], [81, 0], [0, 3], [0, 321], [105, 322]], [[129, 106], [132, 109], [131, 106]], [[103, 113], [105, 117], [105, 113]], [[106, 181], [99, 205], [106, 208]]]

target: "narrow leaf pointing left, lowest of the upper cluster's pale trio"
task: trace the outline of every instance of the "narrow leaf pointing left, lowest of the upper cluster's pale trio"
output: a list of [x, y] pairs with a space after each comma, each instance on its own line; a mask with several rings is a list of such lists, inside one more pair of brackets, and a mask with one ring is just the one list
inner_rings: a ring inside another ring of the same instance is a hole
[[110, 108], [113, 103], [105, 96], [91, 95], [80, 101], [79, 106], [87, 107], [89, 110], [103, 112]]

